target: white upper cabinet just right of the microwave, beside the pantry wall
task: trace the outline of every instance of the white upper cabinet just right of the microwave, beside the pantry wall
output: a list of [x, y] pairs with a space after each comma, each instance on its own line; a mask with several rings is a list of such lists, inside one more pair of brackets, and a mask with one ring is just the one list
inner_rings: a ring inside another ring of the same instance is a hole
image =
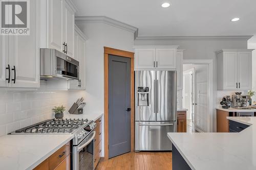
[[75, 27], [74, 58], [79, 61], [79, 80], [70, 80], [69, 89], [86, 89], [86, 36]]

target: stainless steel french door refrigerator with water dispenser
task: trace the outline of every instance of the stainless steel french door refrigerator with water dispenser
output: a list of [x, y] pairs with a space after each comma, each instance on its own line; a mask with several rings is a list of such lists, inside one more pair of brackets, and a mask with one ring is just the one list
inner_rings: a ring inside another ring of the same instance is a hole
[[135, 71], [135, 151], [169, 151], [177, 131], [176, 71]]

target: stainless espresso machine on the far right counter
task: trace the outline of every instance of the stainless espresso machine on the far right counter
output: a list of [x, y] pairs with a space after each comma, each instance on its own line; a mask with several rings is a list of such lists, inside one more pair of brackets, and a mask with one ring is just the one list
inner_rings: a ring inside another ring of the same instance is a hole
[[232, 95], [232, 108], [250, 109], [251, 98], [249, 95], [242, 95], [241, 92], [236, 92]]

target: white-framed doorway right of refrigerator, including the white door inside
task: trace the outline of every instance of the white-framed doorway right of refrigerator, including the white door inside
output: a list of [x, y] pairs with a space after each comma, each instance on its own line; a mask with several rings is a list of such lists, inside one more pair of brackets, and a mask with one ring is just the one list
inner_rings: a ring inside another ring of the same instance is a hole
[[212, 132], [212, 61], [183, 62], [182, 106], [188, 132]]

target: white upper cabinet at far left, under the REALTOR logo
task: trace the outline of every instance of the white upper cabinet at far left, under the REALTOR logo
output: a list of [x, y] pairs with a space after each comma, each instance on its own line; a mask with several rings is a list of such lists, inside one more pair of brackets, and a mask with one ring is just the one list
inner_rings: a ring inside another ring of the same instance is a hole
[[[38, 88], [40, 2], [30, 1], [30, 35], [1, 35], [0, 86]], [[8, 42], [9, 41], [9, 42]], [[2, 69], [3, 68], [3, 69]], [[10, 81], [7, 80], [10, 78]], [[4, 82], [5, 80], [5, 82]]]

